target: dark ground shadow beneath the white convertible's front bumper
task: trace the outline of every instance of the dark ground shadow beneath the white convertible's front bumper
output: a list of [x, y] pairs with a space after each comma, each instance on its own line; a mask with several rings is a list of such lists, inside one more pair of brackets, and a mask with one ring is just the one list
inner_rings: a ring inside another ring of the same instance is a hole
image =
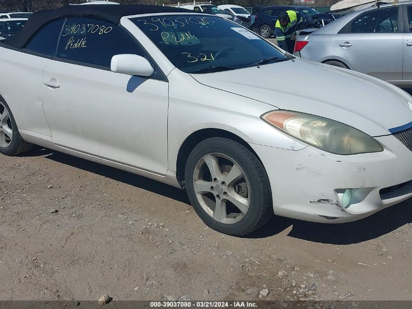
[[246, 237], [271, 237], [293, 226], [288, 233], [290, 237], [322, 244], [350, 245], [375, 239], [408, 223], [412, 223], [412, 199], [379, 211], [368, 218], [343, 224], [322, 224], [274, 217], [265, 226]]

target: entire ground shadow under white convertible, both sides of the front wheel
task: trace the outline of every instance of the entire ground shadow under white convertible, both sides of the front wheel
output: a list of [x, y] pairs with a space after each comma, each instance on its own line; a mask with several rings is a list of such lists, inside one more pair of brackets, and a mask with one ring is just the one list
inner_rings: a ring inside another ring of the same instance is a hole
[[[45, 156], [46, 159], [133, 185], [190, 205], [189, 198], [183, 190], [113, 167], [39, 146], [35, 146], [30, 152], [22, 156]], [[412, 223], [412, 199], [379, 211], [368, 218], [345, 224], [321, 224], [275, 216], [266, 225], [251, 234], [243, 236], [243, 238], [268, 238], [292, 226], [292, 230], [287, 235], [289, 237], [323, 244], [350, 245], [375, 239], [408, 223]]]

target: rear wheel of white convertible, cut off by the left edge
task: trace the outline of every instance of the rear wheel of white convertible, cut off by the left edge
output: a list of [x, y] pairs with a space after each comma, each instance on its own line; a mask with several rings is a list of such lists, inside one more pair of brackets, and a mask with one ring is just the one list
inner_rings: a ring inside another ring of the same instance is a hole
[[33, 144], [23, 140], [9, 106], [0, 99], [0, 153], [17, 156], [32, 147]]

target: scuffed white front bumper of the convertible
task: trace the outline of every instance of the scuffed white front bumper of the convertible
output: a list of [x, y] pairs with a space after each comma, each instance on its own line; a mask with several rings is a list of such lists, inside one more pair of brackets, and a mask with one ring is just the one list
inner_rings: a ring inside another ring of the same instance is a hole
[[[393, 136], [376, 140], [384, 151], [350, 156], [311, 146], [294, 151], [250, 145], [268, 173], [275, 214], [344, 223], [412, 197], [412, 151]], [[342, 207], [342, 189], [359, 193], [347, 209]]]

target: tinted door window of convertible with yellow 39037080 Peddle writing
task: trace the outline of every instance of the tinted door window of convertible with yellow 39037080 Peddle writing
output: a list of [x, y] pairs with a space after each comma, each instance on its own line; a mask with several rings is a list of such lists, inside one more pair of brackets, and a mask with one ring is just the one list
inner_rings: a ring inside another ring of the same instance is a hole
[[112, 57], [118, 54], [144, 57], [137, 42], [118, 25], [98, 19], [66, 20], [59, 39], [57, 58], [110, 68]]

